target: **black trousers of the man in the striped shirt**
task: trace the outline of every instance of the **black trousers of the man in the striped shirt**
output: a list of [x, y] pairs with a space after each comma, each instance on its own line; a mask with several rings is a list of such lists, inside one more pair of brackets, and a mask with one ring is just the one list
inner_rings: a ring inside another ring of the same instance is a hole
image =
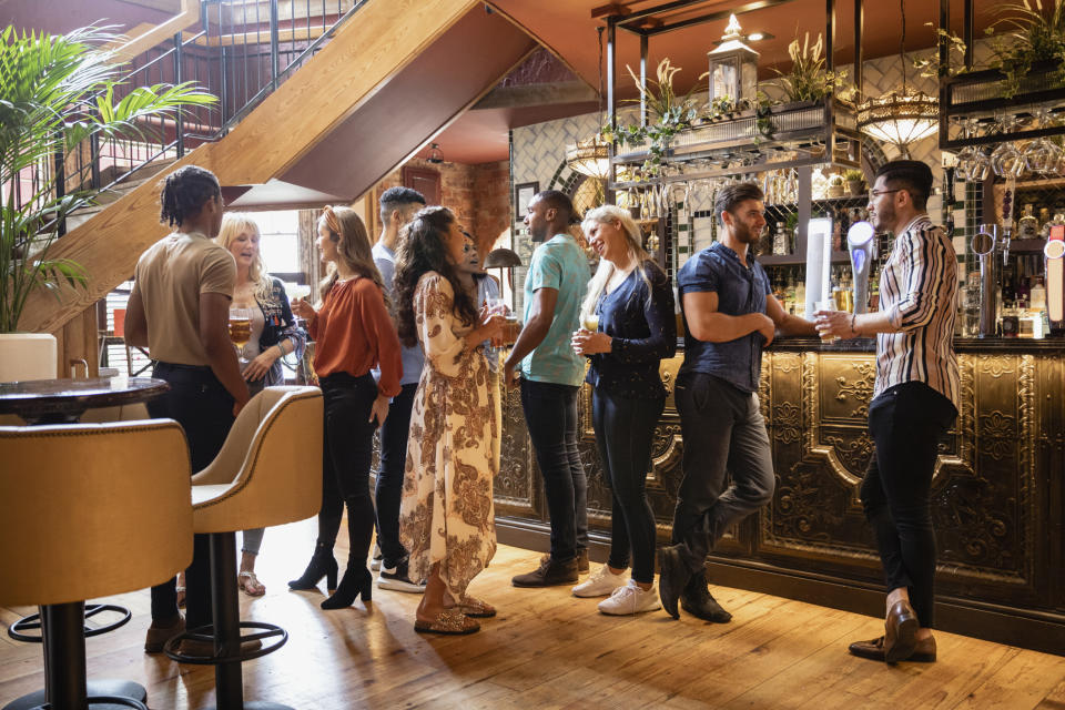
[[865, 517], [876, 534], [888, 591], [906, 587], [921, 626], [935, 623], [935, 530], [931, 488], [939, 443], [957, 416], [924, 383], [895, 385], [869, 405], [876, 449], [862, 480]]

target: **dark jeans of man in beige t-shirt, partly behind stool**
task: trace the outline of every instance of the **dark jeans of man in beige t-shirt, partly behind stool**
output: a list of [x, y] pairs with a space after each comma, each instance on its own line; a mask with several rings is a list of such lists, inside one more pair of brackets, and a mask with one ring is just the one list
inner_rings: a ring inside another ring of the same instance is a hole
[[[148, 402], [153, 418], [178, 422], [189, 440], [192, 473], [214, 460], [233, 426], [233, 397], [210, 367], [156, 363], [152, 376], [170, 383], [170, 390]], [[212, 622], [211, 546], [209, 535], [193, 536], [192, 564], [185, 570], [185, 623], [192, 629]], [[173, 579], [152, 587], [152, 620], [165, 621], [178, 615], [178, 591]]]

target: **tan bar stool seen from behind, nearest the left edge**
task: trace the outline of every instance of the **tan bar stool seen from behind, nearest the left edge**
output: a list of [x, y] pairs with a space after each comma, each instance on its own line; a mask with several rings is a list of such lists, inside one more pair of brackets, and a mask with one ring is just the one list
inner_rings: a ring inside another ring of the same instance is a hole
[[0, 427], [0, 605], [41, 605], [45, 684], [6, 710], [145, 708], [121, 689], [89, 696], [83, 600], [189, 565], [189, 474], [170, 419]]

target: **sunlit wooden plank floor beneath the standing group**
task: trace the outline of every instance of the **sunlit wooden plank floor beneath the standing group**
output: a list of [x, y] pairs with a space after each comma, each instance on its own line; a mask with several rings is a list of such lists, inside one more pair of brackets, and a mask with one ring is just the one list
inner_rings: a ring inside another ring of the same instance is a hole
[[[499, 608], [470, 637], [413, 628], [414, 595], [374, 590], [374, 601], [322, 611], [320, 592], [290, 592], [314, 537], [311, 521], [273, 528], [260, 578], [267, 592], [241, 596], [245, 620], [280, 623], [280, 651], [244, 665], [247, 700], [300, 709], [348, 708], [722, 708], [773, 710], [1065, 710], [1065, 658], [939, 633], [936, 663], [888, 667], [846, 645], [882, 622], [768, 595], [717, 587], [727, 625], [662, 611], [605, 617], [568, 587], [516, 589], [510, 577], [538, 554], [500, 547], [470, 588]], [[343, 564], [346, 551], [338, 549]], [[133, 620], [88, 639], [90, 678], [148, 687], [155, 710], [214, 702], [213, 669], [142, 651], [146, 591], [114, 597]], [[30, 609], [0, 609], [10, 623]], [[0, 638], [0, 707], [42, 682], [41, 648]]]

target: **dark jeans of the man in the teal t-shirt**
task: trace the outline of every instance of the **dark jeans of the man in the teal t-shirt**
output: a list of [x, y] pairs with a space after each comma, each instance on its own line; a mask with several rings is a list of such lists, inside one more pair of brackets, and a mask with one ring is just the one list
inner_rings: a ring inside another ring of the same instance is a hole
[[551, 558], [562, 561], [588, 549], [588, 479], [577, 449], [579, 392], [570, 385], [521, 381], [521, 409], [551, 517]]

